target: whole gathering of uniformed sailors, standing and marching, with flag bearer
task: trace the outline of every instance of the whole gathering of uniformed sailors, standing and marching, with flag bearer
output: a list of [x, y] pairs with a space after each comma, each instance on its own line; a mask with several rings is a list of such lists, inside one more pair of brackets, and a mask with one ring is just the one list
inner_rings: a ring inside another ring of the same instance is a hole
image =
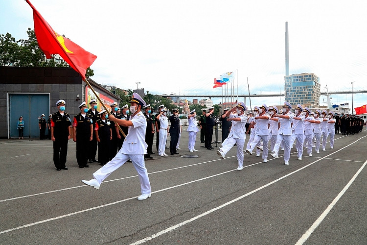
[[[72, 136], [76, 142], [76, 160], [79, 168], [88, 168], [93, 162], [102, 167], [93, 173], [93, 179], [83, 180], [86, 185], [99, 189], [101, 183], [109, 174], [122, 166], [125, 162], [132, 162], [138, 172], [141, 195], [138, 200], [151, 196], [150, 182], [145, 160], [154, 158], [153, 141], [156, 134], [156, 157], [166, 157], [179, 154], [182, 126], [179, 109], [168, 110], [161, 105], [158, 113], [153, 114], [150, 104], [136, 93], [130, 100], [131, 106], [118, 108], [116, 102], [110, 105], [111, 111], [97, 110], [97, 101], [92, 99], [89, 105], [82, 102], [80, 113], [74, 116], [65, 112], [65, 100], [56, 102], [58, 111], [50, 115], [49, 125], [51, 140], [53, 141], [53, 162], [56, 170], [68, 170], [66, 158], [68, 141]], [[243, 169], [244, 153], [262, 157], [268, 160], [268, 152], [273, 158], [278, 158], [279, 152], [284, 151], [284, 164], [291, 161], [291, 148], [295, 145], [297, 159], [302, 160], [303, 147], [307, 155], [334, 148], [334, 136], [341, 133], [346, 136], [362, 131], [364, 121], [355, 115], [337, 114], [325, 110], [312, 112], [307, 107], [297, 105], [294, 109], [290, 103], [284, 102], [279, 110], [266, 104], [255, 106], [253, 114], [247, 114], [248, 108], [243, 102], [235, 107], [224, 109], [221, 118], [222, 147], [216, 151], [224, 159], [232, 147], [236, 147], [238, 167]], [[129, 113], [130, 112], [130, 113]], [[45, 122], [44, 122], [45, 121]], [[45, 126], [44, 126], [45, 124]], [[203, 114], [197, 118], [195, 110], [188, 114], [188, 151], [195, 152], [197, 133], [200, 129], [200, 142], [206, 150], [212, 147], [213, 131], [216, 125], [214, 108], [203, 109]], [[46, 120], [40, 119], [40, 129], [46, 128]], [[42, 135], [41, 135], [42, 134]], [[40, 134], [43, 137], [43, 131]], [[246, 134], [249, 136], [245, 145]], [[169, 147], [167, 137], [170, 136]], [[199, 136], [198, 136], [199, 138]], [[327, 139], [329, 147], [327, 147]], [[295, 143], [295, 144], [294, 144]], [[97, 154], [98, 149], [98, 154]], [[169, 149], [169, 152], [166, 149]], [[96, 159], [98, 156], [98, 160]]]

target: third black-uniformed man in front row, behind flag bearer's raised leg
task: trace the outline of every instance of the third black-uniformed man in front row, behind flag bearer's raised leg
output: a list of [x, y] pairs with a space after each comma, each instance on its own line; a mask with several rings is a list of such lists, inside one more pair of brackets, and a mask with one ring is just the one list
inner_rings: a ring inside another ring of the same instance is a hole
[[98, 142], [98, 161], [103, 166], [110, 161], [109, 148], [112, 140], [112, 129], [106, 110], [102, 110], [99, 115], [100, 118], [95, 122], [94, 134]]

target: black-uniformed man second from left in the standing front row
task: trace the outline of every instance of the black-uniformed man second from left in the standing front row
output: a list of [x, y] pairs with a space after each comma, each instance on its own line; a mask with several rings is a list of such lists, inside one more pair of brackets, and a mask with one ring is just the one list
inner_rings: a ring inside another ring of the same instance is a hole
[[88, 146], [93, 139], [93, 124], [91, 114], [88, 113], [88, 105], [83, 101], [79, 105], [80, 113], [74, 116], [72, 124], [73, 141], [76, 142], [76, 161], [79, 168], [89, 168]]

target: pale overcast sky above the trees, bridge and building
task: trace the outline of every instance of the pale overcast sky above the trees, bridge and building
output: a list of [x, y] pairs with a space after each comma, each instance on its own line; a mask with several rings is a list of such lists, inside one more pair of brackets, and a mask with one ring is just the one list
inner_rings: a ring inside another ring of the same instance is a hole
[[[288, 22], [290, 74], [315, 73], [321, 92], [351, 91], [351, 82], [354, 91], [367, 90], [364, 0], [30, 1], [56, 32], [97, 55], [92, 79], [100, 84], [221, 95], [214, 78], [235, 72], [239, 95], [249, 93], [247, 81], [251, 94], [284, 93]], [[28, 27], [33, 15], [24, 0], [0, 0], [0, 34], [25, 39]], [[353, 97], [354, 107], [367, 103], [366, 94]], [[252, 106], [282, 100], [252, 98]], [[351, 94], [332, 96], [346, 102]]]

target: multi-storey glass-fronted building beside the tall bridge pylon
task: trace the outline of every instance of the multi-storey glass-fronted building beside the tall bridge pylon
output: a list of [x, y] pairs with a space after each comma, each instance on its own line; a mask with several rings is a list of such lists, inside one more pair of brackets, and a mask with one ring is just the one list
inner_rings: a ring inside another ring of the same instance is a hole
[[284, 76], [285, 101], [291, 105], [320, 107], [320, 78], [314, 73], [301, 73]]

